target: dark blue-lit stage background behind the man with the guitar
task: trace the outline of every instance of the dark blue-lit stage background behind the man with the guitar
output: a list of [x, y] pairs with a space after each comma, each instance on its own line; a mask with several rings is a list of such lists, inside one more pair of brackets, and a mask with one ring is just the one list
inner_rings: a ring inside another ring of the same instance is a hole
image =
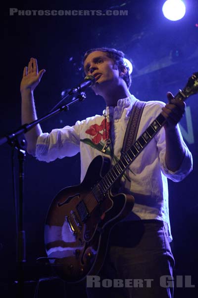
[[[134, 68], [132, 94], [141, 100], [166, 102], [167, 91], [176, 94], [179, 88], [185, 86], [188, 77], [198, 72], [198, 1], [186, 0], [185, 3], [185, 17], [173, 22], [162, 14], [163, 0], [8, 1], [7, 7], [1, 7], [0, 136], [20, 125], [19, 86], [23, 68], [31, 57], [38, 59], [39, 69], [46, 69], [35, 91], [38, 116], [47, 113], [58, 102], [61, 91], [82, 80], [83, 53], [100, 46], [122, 50], [131, 60]], [[128, 16], [10, 16], [10, 7], [30, 10], [127, 9]], [[77, 120], [100, 114], [105, 107], [103, 99], [95, 96], [91, 89], [86, 94], [84, 102], [43, 123], [43, 131], [50, 132], [53, 128], [73, 125]], [[176, 260], [175, 275], [191, 275], [192, 284], [196, 284], [198, 95], [189, 98], [186, 104], [192, 121], [190, 116], [188, 119], [184, 116], [181, 126], [187, 132], [183, 136], [193, 153], [194, 170], [180, 183], [169, 181], [170, 221], [174, 238], [171, 246]], [[187, 127], [189, 123], [192, 128]], [[0, 147], [0, 175], [0, 297], [7, 297], [14, 291], [12, 284], [17, 279], [11, 149], [7, 144]], [[24, 189], [26, 281], [51, 275], [49, 268], [36, 264], [38, 257], [45, 256], [45, 216], [55, 194], [79, 181], [79, 154], [51, 163], [39, 162], [27, 155]], [[34, 282], [27, 283], [27, 297], [32, 297], [34, 287]], [[52, 293], [63, 297], [62, 288], [59, 281], [43, 281], [39, 297], [53, 297]], [[71, 297], [74, 290], [76, 294], [85, 295], [82, 287], [75, 286], [67, 287], [66, 297]], [[175, 289], [175, 297], [187, 295], [196, 297], [197, 288]]]

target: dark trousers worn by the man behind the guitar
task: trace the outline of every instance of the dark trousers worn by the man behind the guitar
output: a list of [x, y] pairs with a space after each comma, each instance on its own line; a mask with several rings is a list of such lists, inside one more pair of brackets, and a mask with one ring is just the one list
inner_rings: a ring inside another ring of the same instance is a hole
[[97, 276], [87, 276], [88, 298], [172, 298], [174, 257], [165, 224], [120, 222], [110, 233]]

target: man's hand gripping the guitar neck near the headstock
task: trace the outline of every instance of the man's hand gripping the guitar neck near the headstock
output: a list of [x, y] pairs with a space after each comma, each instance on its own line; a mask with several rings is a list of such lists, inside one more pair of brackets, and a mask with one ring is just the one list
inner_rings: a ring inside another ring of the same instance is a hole
[[168, 103], [162, 108], [162, 114], [166, 118], [166, 124], [164, 128], [172, 129], [175, 128], [177, 123], [182, 119], [186, 104], [183, 101], [175, 100], [171, 92], [167, 93]]

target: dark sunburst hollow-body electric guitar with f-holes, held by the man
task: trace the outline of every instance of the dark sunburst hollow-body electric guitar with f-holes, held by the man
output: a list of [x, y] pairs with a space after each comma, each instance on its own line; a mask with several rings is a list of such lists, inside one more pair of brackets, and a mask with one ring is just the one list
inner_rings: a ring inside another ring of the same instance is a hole
[[[184, 101], [196, 93], [198, 73], [175, 98]], [[132, 196], [114, 195], [112, 186], [165, 122], [159, 114], [114, 166], [109, 158], [98, 155], [80, 185], [62, 189], [53, 199], [45, 224], [45, 246], [49, 262], [61, 279], [75, 283], [99, 272], [111, 228], [134, 206]]]

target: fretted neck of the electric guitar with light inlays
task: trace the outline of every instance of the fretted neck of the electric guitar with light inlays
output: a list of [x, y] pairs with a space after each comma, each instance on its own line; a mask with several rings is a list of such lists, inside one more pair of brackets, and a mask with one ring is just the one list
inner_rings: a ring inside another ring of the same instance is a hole
[[[175, 96], [175, 100], [184, 101], [186, 96], [182, 90], [179, 90]], [[106, 175], [99, 181], [98, 187], [100, 192], [105, 194], [109, 190], [115, 181], [120, 178], [124, 171], [130, 166], [130, 164], [136, 159], [136, 157], [142, 152], [142, 150], [148, 145], [148, 143], [154, 138], [158, 131], [165, 124], [166, 119], [160, 113], [157, 118], [148, 126], [146, 131], [138, 138], [138, 140], [122, 154], [120, 160], [106, 173]]]

